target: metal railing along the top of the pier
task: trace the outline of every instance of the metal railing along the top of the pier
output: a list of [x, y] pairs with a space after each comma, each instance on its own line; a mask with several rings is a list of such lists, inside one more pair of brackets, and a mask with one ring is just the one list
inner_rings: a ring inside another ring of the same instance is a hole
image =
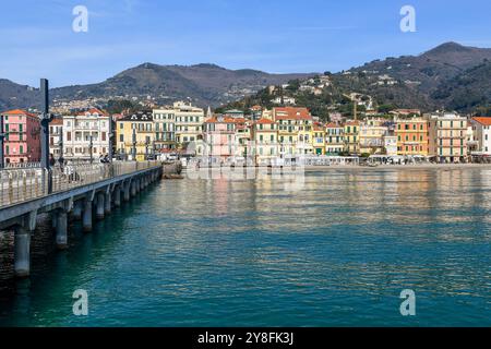
[[0, 170], [0, 208], [74, 188], [97, 183], [107, 179], [130, 174], [153, 167], [160, 161], [113, 161], [111, 164], [75, 164], [43, 168]]

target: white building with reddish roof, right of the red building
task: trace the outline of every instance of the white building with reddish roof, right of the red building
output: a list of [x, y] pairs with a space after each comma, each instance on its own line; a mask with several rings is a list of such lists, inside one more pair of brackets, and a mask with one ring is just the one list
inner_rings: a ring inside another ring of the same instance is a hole
[[94, 160], [109, 153], [110, 117], [93, 108], [63, 117], [63, 157], [65, 160]]

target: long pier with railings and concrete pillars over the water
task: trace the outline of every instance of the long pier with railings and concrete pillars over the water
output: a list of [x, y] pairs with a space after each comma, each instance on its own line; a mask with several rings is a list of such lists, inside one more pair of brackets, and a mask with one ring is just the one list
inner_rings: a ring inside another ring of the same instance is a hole
[[14, 230], [15, 275], [29, 275], [31, 236], [39, 214], [51, 214], [57, 246], [67, 249], [69, 215], [82, 219], [84, 231], [89, 232], [93, 210], [97, 219], [104, 219], [161, 173], [160, 161], [0, 170], [0, 230]]

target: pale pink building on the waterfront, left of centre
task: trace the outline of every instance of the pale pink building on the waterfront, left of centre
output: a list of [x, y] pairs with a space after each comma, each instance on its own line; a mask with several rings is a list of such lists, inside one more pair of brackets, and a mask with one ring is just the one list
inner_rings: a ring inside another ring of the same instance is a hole
[[212, 117], [204, 122], [204, 156], [225, 163], [236, 155], [238, 146], [236, 140], [237, 122], [238, 119], [223, 116]]

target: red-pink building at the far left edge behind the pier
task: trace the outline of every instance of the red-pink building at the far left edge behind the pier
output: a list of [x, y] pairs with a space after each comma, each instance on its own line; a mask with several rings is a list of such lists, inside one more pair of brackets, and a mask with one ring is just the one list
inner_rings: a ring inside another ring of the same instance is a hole
[[37, 163], [40, 160], [40, 120], [25, 110], [2, 112], [5, 140], [5, 164]]

